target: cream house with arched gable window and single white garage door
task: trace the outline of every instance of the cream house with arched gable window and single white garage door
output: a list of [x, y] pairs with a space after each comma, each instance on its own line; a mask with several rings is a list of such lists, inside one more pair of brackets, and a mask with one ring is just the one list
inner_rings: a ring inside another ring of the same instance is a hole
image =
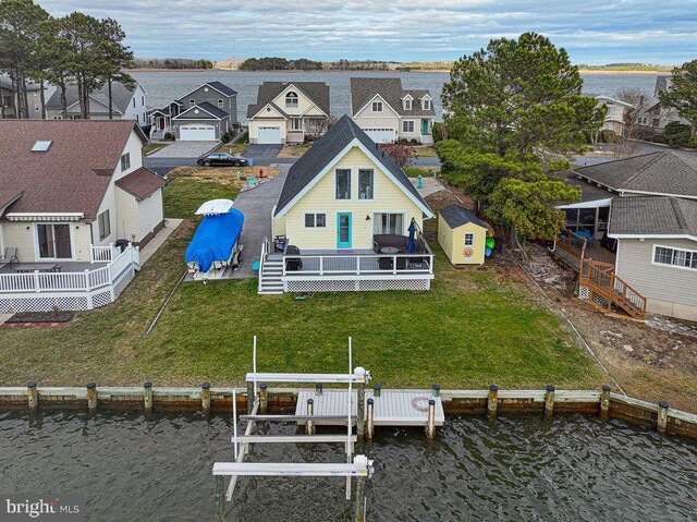
[[247, 107], [249, 143], [316, 139], [329, 122], [329, 86], [323, 82], [264, 82]]

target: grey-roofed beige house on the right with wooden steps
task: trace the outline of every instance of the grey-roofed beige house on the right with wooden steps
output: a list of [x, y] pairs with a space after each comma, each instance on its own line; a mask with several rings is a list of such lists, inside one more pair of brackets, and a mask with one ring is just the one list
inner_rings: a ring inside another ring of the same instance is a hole
[[[697, 320], [697, 160], [653, 153], [575, 168], [567, 177], [583, 191], [582, 202], [560, 207], [577, 235], [555, 247], [572, 264], [584, 259], [580, 295], [595, 292], [607, 304], [602, 280], [623, 293], [613, 295], [611, 308]], [[609, 250], [615, 241], [616, 254]], [[571, 252], [582, 243], [584, 252]]]

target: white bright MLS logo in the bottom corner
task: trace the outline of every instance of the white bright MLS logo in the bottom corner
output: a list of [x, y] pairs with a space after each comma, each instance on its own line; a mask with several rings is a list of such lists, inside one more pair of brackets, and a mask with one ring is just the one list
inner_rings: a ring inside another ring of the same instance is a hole
[[47, 520], [51, 522], [82, 522], [85, 520], [83, 495], [3, 495], [0, 520]]

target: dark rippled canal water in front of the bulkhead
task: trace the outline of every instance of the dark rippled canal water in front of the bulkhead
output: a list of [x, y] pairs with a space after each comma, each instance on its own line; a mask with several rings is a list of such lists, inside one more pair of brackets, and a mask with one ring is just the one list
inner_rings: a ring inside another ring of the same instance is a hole
[[[81, 493], [89, 521], [212, 520], [210, 471], [232, 461], [231, 430], [231, 415], [2, 412], [0, 493]], [[697, 520], [697, 444], [620, 421], [450, 417], [430, 445], [420, 429], [382, 429], [367, 450], [369, 521]], [[249, 459], [345, 454], [284, 445]], [[235, 520], [348, 521], [344, 485], [243, 477]]]

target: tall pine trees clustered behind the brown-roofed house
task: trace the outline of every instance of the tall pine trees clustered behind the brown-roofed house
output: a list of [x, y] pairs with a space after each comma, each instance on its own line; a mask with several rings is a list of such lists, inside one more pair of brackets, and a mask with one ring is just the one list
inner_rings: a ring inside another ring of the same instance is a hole
[[60, 89], [63, 118], [68, 118], [65, 90], [76, 85], [84, 119], [89, 118], [89, 94], [108, 85], [112, 118], [113, 82], [135, 84], [121, 72], [133, 60], [124, 38], [112, 19], [98, 20], [81, 12], [56, 19], [32, 0], [0, 0], [0, 73], [12, 81], [16, 118], [29, 118], [29, 82], [41, 85], [41, 107], [46, 83]]

